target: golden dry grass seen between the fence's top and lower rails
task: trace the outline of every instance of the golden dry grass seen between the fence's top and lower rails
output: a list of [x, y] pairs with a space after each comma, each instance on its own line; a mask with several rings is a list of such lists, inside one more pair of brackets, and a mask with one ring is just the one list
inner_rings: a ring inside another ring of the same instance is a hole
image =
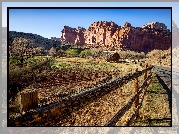
[[[139, 78], [139, 86], [143, 82], [143, 76]], [[128, 82], [121, 88], [110, 92], [109, 94], [92, 102], [85, 108], [72, 113], [66, 121], [58, 122], [60, 126], [104, 126], [134, 95], [133, 81]], [[121, 118], [116, 124], [122, 126], [130, 118], [134, 107], [126, 112], [125, 117]]]

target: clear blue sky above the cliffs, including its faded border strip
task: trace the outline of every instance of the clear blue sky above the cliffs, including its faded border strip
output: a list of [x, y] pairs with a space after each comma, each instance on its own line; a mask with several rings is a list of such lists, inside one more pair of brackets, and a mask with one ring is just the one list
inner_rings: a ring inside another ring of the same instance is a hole
[[[68, 4], [67, 4], [68, 3]], [[76, 3], [76, 4], [75, 4]], [[7, 26], [6, 18], [6, 7], [64, 7], [64, 6], [94, 6], [94, 2], [82, 3], [82, 2], [3, 2], [2, 3], [2, 12], [3, 12], [3, 20], [2, 26]], [[77, 4], [78, 3], [78, 4]], [[169, 2], [170, 3], [170, 2]], [[173, 8], [173, 20], [175, 21], [176, 11], [179, 7], [177, 3], [163, 3], [164, 7], [171, 7]], [[162, 6], [162, 4], [157, 2], [155, 4], [149, 2], [97, 2], [95, 6], [107, 6], [107, 7], [144, 7], [144, 6]], [[175, 7], [175, 9], [174, 9]], [[175, 13], [175, 14], [174, 14]], [[41, 35], [45, 38], [51, 37], [60, 37], [61, 30], [63, 29], [64, 25], [68, 25], [73, 28], [77, 28], [78, 26], [88, 28], [90, 24], [94, 21], [113, 21], [119, 26], [123, 26], [125, 22], [130, 22], [134, 27], [140, 27], [146, 23], [159, 21], [167, 25], [170, 29], [170, 11], [164, 10], [12, 10], [10, 11], [10, 31], [19, 31], [19, 32], [27, 32], [27, 33], [34, 33]], [[177, 24], [177, 21], [175, 21]], [[178, 24], [177, 24], [178, 25]]]

